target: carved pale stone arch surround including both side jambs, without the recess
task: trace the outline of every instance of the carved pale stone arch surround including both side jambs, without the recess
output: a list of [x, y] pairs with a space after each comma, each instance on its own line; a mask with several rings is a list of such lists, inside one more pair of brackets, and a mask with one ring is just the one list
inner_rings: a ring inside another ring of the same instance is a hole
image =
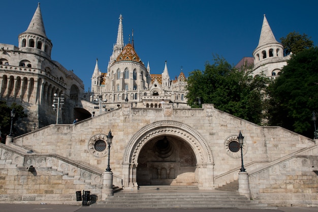
[[[138, 187], [137, 166], [142, 148], [156, 137], [172, 136], [187, 143], [196, 159], [196, 180], [198, 187], [213, 186], [213, 156], [208, 143], [192, 127], [172, 120], [152, 123], [140, 129], [129, 141], [123, 155], [123, 173], [125, 187]], [[209, 173], [209, 174], [207, 174]]]

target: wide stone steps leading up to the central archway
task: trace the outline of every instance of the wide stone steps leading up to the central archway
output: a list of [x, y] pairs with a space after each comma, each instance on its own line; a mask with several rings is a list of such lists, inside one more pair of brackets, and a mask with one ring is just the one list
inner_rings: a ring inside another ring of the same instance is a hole
[[277, 209], [256, 200], [249, 200], [237, 192], [163, 186], [141, 187], [135, 192], [122, 190], [90, 207]]

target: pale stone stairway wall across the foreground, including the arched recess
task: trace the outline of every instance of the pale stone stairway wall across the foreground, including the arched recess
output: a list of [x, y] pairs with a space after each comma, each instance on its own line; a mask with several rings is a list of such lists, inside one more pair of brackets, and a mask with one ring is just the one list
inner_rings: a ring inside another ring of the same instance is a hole
[[[251, 198], [274, 205], [318, 205], [318, 176], [314, 172], [318, 149], [314, 140], [280, 127], [257, 126], [209, 104], [202, 109], [179, 109], [173, 104], [132, 108], [123, 103], [75, 125], [51, 125], [16, 137], [1, 147], [4, 186], [0, 198], [9, 201], [16, 190], [17, 200], [23, 195], [36, 200], [39, 195], [39, 199], [49, 201], [52, 195], [56, 199], [73, 194], [70, 201], [74, 201], [75, 191], [84, 189], [102, 198], [99, 188], [103, 185], [98, 179], [107, 168], [110, 130], [113, 185], [123, 189], [134, 190], [139, 185], [214, 189], [238, 179], [240, 152], [229, 146], [237, 142], [241, 131]], [[26, 171], [30, 165], [36, 175]], [[24, 184], [13, 180], [13, 175], [16, 179], [25, 177]], [[42, 190], [28, 190], [41, 175], [55, 183], [42, 185]], [[61, 189], [63, 184], [70, 184], [70, 189]], [[17, 194], [17, 188], [25, 193]], [[270, 198], [281, 193], [286, 195], [281, 201]], [[301, 200], [304, 195], [308, 201]]]

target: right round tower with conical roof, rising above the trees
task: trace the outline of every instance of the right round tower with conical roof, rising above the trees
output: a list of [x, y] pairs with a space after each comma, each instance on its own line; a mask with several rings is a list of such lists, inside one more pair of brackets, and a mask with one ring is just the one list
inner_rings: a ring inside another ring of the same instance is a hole
[[253, 58], [253, 75], [264, 73], [266, 76], [277, 76], [281, 68], [287, 64], [288, 58], [283, 55], [283, 46], [276, 41], [265, 14], [259, 45], [253, 51]]

